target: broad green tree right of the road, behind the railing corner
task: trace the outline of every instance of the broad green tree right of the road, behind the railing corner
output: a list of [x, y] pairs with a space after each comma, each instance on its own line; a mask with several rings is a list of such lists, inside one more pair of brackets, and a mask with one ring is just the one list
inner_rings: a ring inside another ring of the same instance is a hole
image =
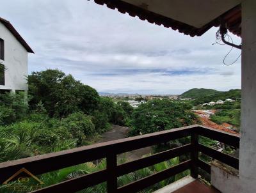
[[152, 100], [132, 114], [131, 135], [148, 134], [197, 123], [191, 105], [171, 100]]

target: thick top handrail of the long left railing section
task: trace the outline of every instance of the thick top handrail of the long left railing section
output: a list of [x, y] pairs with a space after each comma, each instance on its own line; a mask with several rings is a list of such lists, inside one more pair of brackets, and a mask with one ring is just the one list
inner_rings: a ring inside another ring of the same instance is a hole
[[25, 167], [35, 175], [47, 173], [49, 171], [55, 171], [57, 169], [104, 158], [107, 157], [109, 153], [125, 153], [127, 151], [145, 148], [147, 146], [164, 143], [173, 139], [187, 137], [191, 135], [193, 128], [196, 127], [198, 127], [198, 125], [173, 128], [172, 130], [164, 130], [152, 134], [128, 137], [125, 139], [74, 148], [71, 150], [3, 162], [0, 163], [0, 183], [19, 171], [22, 167]]

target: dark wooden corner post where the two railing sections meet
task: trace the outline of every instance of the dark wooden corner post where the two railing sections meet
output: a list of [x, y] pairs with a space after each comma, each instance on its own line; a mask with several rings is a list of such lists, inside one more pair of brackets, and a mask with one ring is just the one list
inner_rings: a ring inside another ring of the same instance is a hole
[[198, 178], [198, 134], [193, 133], [191, 135], [191, 176], [193, 178]]

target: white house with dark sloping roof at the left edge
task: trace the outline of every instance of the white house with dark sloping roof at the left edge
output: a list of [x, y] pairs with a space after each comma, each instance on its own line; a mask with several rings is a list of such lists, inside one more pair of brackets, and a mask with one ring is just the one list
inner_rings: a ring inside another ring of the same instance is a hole
[[34, 53], [12, 24], [0, 17], [0, 92], [28, 91], [28, 52]]

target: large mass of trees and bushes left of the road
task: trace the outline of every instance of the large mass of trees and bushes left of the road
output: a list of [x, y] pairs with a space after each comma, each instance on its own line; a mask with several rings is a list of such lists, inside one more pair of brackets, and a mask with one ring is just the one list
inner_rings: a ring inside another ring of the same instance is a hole
[[102, 98], [59, 70], [33, 72], [28, 83], [28, 102], [22, 92], [0, 94], [0, 162], [93, 143], [131, 116], [129, 104]]

